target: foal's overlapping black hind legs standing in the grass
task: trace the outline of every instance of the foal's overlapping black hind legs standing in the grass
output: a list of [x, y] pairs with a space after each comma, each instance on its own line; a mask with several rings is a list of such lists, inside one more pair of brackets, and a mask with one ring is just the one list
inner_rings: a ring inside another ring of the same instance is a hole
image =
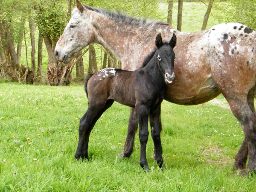
[[99, 117], [113, 104], [113, 100], [108, 100], [105, 103], [90, 102], [89, 108], [80, 120], [79, 125], [79, 142], [76, 149], [75, 157], [88, 158], [88, 142], [90, 132]]

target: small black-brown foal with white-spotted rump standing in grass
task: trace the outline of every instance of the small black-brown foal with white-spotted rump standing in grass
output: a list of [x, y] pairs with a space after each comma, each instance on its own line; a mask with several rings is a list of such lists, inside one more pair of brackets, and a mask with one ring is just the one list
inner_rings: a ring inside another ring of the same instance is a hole
[[162, 145], [160, 140], [161, 103], [166, 84], [172, 83], [176, 45], [176, 36], [169, 43], [163, 43], [161, 34], [156, 37], [156, 46], [143, 62], [140, 69], [134, 71], [107, 68], [87, 77], [85, 92], [88, 97], [88, 110], [82, 116], [79, 125], [79, 142], [75, 157], [88, 158], [90, 132], [99, 117], [114, 101], [135, 108], [138, 114], [140, 131], [140, 166], [149, 170], [146, 158], [148, 142], [148, 118], [154, 141], [155, 160], [163, 166]]

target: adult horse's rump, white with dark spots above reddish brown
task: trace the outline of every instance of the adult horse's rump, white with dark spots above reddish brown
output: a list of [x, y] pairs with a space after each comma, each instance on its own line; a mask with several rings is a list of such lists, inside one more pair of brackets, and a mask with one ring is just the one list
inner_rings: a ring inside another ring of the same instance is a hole
[[226, 94], [244, 96], [256, 81], [256, 32], [240, 23], [223, 23], [209, 29], [212, 77]]

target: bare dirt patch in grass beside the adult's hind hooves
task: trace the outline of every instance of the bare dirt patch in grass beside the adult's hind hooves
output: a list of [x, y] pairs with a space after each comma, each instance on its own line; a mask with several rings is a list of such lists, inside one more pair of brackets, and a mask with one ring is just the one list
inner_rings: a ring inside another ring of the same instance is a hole
[[209, 164], [223, 166], [233, 163], [233, 158], [231, 158], [229, 155], [224, 155], [223, 150], [218, 146], [205, 149], [203, 154], [205, 161]]

